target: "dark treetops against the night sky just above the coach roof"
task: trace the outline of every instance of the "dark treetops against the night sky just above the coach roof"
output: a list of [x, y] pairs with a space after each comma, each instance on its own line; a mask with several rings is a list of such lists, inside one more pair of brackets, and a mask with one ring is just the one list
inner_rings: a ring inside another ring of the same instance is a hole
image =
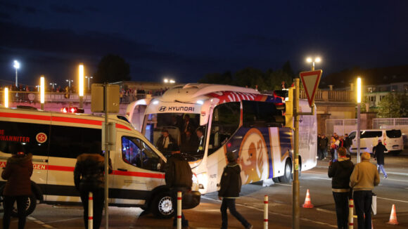
[[272, 91], [281, 89], [282, 81], [285, 81], [286, 86], [291, 86], [293, 76], [291, 63], [287, 61], [281, 69], [275, 71], [268, 69], [262, 72], [262, 70], [254, 67], [246, 67], [234, 74], [231, 74], [231, 72], [206, 74], [199, 82], [205, 84], [229, 84], [257, 88], [260, 91]]

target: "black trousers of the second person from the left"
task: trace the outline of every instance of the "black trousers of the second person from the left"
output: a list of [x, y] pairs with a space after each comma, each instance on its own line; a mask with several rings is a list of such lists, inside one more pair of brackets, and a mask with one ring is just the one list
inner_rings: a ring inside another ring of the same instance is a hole
[[[84, 207], [84, 224], [88, 229], [88, 197], [89, 190], [80, 190], [82, 206]], [[101, 226], [103, 203], [105, 199], [105, 190], [98, 188], [92, 192], [94, 200], [94, 229], [98, 229]]]

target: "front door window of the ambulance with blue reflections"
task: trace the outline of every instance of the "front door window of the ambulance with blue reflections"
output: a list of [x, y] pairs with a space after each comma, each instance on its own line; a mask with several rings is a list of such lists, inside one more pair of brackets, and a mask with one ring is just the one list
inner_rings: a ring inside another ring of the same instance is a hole
[[139, 138], [122, 137], [122, 159], [141, 169], [160, 170], [160, 157]]

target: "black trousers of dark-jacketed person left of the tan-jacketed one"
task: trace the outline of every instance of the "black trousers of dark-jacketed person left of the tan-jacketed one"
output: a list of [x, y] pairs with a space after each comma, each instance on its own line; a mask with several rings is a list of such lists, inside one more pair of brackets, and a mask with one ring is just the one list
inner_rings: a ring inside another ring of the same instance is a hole
[[348, 229], [348, 196], [349, 192], [333, 192], [336, 204], [337, 228]]

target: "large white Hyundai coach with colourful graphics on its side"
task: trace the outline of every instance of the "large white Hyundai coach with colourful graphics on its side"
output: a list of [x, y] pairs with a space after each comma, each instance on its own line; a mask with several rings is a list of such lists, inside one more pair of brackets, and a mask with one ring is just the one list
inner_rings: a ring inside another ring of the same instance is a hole
[[[311, 112], [307, 101], [300, 105], [302, 112]], [[135, 101], [127, 117], [164, 155], [180, 150], [200, 192], [207, 193], [217, 190], [228, 151], [238, 157], [243, 184], [291, 181], [293, 129], [286, 127], [284, 112], [285, 99], [279, 96], [238, 86], [186, 84]], [[164, 129], [172, 137], [167, 149], [161, 145]], [[316, 115], [300, 117], [299, 146], [301, 170], [312, 169], [317, 164]]]

